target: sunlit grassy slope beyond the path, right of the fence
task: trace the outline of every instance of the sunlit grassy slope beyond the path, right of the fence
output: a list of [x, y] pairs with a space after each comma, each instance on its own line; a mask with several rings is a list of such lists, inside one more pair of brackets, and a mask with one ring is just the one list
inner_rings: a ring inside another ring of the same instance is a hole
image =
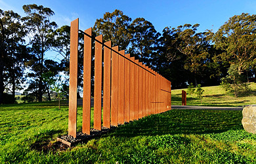
[[[190, 106], [244, 106], [248, 104], [256, 104], [256, 83], [249, 83], [251, 91], [237, 98], [228, 92], [225, 92], [221, 86], [202, 87], [203, 102], [196, 97], [196, 94], [187, 94], [187, 105]], [[176, 89], [171, 91], [171, 104], [181, 105], [181, 91]], [[184, 89], [187, 91], [187, 89]]]

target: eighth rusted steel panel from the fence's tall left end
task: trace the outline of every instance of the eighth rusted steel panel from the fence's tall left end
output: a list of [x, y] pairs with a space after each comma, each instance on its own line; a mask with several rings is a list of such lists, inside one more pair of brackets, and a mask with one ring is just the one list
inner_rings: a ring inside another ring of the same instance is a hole
[[[135, 57], [131, 57], [135, 62]], [[135, 119], [135, 64], [130, 63], [130, 121]]]

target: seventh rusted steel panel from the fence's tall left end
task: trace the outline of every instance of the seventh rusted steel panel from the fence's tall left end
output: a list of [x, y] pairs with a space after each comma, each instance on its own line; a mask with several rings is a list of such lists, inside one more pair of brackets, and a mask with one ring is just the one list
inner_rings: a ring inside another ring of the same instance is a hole
[[[130, 54], [125, 54], [130, 58]], [[125, 59], [125, 122], [130, 121], [130, 61]]]

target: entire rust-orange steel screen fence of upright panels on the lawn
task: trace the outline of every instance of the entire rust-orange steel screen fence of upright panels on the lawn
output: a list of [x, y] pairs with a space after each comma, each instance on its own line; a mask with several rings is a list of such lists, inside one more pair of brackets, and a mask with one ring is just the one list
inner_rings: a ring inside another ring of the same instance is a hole
[[82, 133], [90, 134], [91, 130], [91, 53], [93, 41], [95, 41], [94, 129], [101, 130], [102, 126], [110, 128], [110, 125], [117, 126], [146, 115], [171, 110], [170, 81], [139, 60], [135, 60], [135, 57], [125, 54], [125, 51], [119, 51], [118, 46], [111, 47], [110, 41], [103, 43], [102, 35], [92, 37], [91, 28], [85, 31], [79, 30], [77, 18], [71, 22], [70, 30], [68, 134], [76, 138], [79, 32], [84, 34]]

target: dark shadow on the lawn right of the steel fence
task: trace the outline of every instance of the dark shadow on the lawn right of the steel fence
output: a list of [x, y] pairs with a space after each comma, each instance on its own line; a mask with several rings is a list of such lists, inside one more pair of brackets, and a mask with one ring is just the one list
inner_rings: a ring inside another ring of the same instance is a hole
[[110, 136], [222, 133], [242, 129], [241, 111], [171, 110], [122, 125]]

